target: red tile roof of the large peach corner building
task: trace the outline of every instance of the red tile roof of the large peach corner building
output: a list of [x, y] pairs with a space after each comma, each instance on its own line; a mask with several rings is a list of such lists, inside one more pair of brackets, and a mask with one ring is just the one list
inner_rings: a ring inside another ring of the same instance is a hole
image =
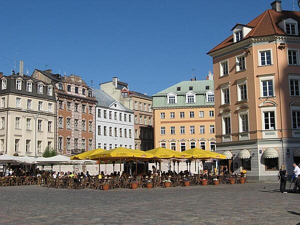
[[[293, 18], [300, 24], [300, 12], [299, 11], [276, 11], [274, 9], [267, 9], [262, 14], [258, 15], [252, 21], [247, 23], [247, 26], [252, 26], [253, 29], [243, 38], [268, 36], [268, 35], [286, 35], [277, 23], [286, 18]], [[207, 54], [233, 44], [233, 36], [227, 37], [221, 43], [209, 50]]]

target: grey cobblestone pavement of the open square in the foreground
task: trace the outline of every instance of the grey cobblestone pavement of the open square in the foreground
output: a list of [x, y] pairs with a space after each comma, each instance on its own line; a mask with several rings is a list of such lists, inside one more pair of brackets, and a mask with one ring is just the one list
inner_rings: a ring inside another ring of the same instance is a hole
[[0, 187], [0, 224], [300, 224], [300, 194], [279, 193], [278, 187], [251, 182], [107, 191]]

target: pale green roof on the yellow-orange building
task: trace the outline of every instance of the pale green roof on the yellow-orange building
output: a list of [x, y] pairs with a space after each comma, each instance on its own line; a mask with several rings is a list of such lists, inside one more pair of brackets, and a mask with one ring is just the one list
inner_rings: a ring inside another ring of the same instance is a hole
[[[195, 93], [195, 102], [186, 103], [187, 92]], [[152, 95], [152, 108], [165, 107], [199, 107], [199, 106], [213, 106], [214, 102], [207, 102], [205, 93], [213, 91], [213, 80], [189, 80], [181, 81], [173, 86], [161, 90]], [[177, 102], [175, 104], [167, 103], [167, 94], [175, 93]]]

